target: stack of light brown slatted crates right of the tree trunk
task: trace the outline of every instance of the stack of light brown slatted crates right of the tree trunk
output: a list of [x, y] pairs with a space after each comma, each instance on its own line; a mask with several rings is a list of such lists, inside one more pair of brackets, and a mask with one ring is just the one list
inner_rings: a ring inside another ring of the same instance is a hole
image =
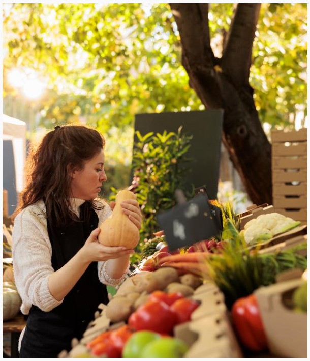
[[272, 196], [276, 212], [307, 222], [307, 128], [271, 132]]

